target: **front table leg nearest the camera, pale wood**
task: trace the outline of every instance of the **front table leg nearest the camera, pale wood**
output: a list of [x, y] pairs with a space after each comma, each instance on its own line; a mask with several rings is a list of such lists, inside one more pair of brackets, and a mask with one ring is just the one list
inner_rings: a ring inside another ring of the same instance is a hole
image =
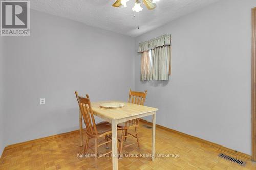
[[111, 130], [112, 130], [112, 169], [118, 169], [118, 153], [117, 153], [117, 123], [116, 120], [112, 120], [111, 122]]

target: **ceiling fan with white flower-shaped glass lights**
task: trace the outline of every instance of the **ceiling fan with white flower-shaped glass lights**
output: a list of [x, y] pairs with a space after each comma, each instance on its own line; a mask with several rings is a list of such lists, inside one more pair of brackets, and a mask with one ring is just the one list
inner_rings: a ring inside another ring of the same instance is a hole
[[[121, 5], [123, 5], [124, 7], [127, 7], [126, 3], [128, 2], [129, 0], [117, 0], [112, 6], [113, 7], [120, 7]], [[153, 10], [154, 8], [156, 8], [156, 3], [157, 1], [159, 0], [141, 0], [143, 1], [143, 4], [147, 7], [147, 9], [149, 10]], [[142, 11], [142, 7], [140, 6], [140, 0], [135, 0], [135, 5], [134, 7], [132, 8], [133, 11], [136, 11], [136, 12], [140, 12]]]

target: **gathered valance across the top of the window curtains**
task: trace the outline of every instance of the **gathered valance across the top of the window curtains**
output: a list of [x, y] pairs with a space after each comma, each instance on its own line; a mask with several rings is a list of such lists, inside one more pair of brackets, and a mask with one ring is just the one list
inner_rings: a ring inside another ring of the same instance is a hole
[[170, 34], [165, 34], [149, 41], [140, 43], [138, 52], [142, 53], [165, 45], [170, 45]]

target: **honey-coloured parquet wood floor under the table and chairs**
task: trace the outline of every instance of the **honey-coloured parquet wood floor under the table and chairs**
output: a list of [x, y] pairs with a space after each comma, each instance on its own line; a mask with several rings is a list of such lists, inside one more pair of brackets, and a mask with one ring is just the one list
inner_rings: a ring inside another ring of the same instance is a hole
[[[140, 124], [141, 149], [136, 145], [124, 148], [123, 154], [149, 154], [151, 152], [151, 129]], [[120, 134], [119, 134], [120, 135]], [[134, 142], [129, 138], [126, 144]], [[90, 142], [91, 145], [93, 141]], [[27, 144], [6, 150], [0, 162], [0, 169], [94, 169], [94, 158], [79, 157], [83, 147], [79, 146], [79, 133], [62, 136], [48, 141]], [[99, 152], [110, 149], [102, 147]], [[221, 151], [182, 135], [156, 128], [156, 154], [179, 154], [179, 157], [124, 157], [118, 160], [119, 169], [255, 169], [256, 164], [247, 160], [242, 167], [218, 157]], [[88, 153], [93, 153], [90, 149]], [[230, 154], [228, 154], [230, 155]], [[233, 155], [230, 155], [233, 156]], [[236, 157], [236, 156], [234, 156]], [[239, 157], [238, 157], [239, 158]], [[240, 158], [243, 159], [243, 158]], [[112, 169], [111, 157], [98, 160], [97, 169]]]

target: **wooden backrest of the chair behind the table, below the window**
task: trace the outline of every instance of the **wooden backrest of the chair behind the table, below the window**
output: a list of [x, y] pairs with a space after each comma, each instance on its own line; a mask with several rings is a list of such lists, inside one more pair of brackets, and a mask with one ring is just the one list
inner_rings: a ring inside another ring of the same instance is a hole
[[146, 100], [147, 90], [145, 92], [138, 92], [138, 91], [129, 91], [129, 103], [134, 103], [137, 105], [144, 105]]

